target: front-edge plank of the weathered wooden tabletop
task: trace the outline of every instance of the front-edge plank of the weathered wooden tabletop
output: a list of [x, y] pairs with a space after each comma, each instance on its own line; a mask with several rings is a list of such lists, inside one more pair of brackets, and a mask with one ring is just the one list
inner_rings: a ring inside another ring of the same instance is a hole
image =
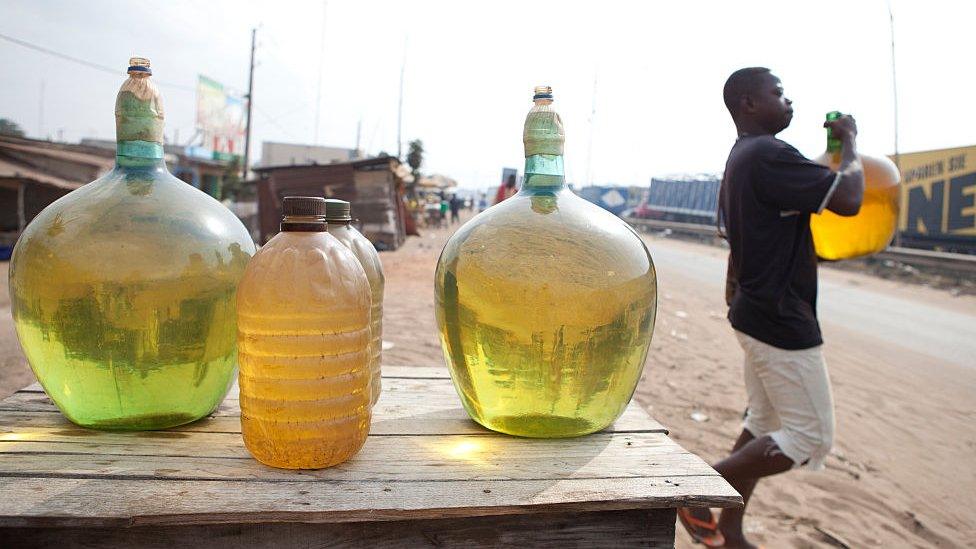
[[731, 507], [721, 477], [344, 481], [0, 478], [2, 527], [357, 522], [681, 506]]

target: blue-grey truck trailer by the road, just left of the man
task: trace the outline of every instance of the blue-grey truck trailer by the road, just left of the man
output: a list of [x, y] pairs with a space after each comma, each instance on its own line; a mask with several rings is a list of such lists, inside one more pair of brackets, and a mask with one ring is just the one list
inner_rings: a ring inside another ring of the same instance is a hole
[[715, 225], [721, 183], [714, 176], [653, 178], [647, 199], [622, 216]]

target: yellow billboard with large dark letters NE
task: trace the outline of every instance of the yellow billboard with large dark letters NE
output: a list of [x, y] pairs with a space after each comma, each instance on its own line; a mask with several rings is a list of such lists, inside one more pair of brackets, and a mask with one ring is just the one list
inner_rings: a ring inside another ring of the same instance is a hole
[[976, 145], [902, 154], [897, 163], [903, 239], [950, 248], [976, 241]]

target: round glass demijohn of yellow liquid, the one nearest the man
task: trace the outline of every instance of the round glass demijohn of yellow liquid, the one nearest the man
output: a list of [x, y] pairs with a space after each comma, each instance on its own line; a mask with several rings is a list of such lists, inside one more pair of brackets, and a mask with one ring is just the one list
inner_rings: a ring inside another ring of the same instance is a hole
[[657, 279], [641, 238], [566, 186], [551, 88], [536, 88], [533, 101], [522, 188], [448, 241], [435, 312], [475, 421], [572, 437], [607, 427], [630, 402], [654, 330]]

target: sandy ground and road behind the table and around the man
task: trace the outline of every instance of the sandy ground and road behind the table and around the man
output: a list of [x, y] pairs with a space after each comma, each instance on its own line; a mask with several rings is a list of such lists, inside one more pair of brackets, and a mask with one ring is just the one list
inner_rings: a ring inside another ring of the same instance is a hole
[[[393, 344], [385, 364], [443, 364], [433, 273], [450, 233], [425, 230], [381, 256]], [[738, 434], [745, 401], [722, 300], [725, 252], [645, 238], [660, 296], [636, 398], [680, 444], [715, 461]], [[0, 398], [33, 381], [2, 286]], [[835, 449], [825, 471], [761, 483], [747, 532], [766, 547], [976, 546], [976, 298], [822, 269], [821, 317]], [[692, 547], [683, 532], [678, 547]]]

